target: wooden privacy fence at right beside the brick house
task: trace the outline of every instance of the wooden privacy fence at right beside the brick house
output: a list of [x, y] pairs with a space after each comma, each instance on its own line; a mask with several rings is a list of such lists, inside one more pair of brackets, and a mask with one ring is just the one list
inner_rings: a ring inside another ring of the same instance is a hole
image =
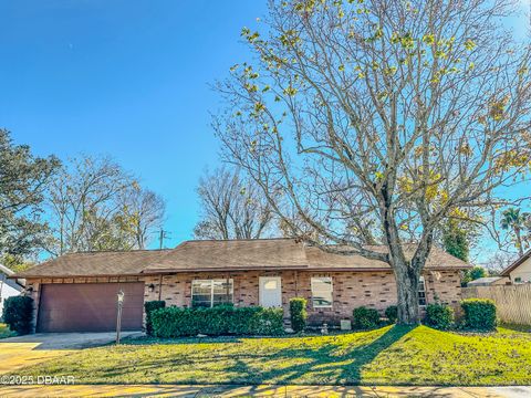
[[506, 323], [531, 325], [531, 283], [462, 289], [464, 298], [491, 298]]

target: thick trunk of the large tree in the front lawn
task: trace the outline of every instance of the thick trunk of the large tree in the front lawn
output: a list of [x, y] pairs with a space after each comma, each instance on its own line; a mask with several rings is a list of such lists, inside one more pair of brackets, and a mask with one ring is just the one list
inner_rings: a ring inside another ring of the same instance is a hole
[[398, 296], [398, 324], [416, 325], [419, 323], [418, 313], [418, 280], [419, 273], [406, 262], [393, 266]]

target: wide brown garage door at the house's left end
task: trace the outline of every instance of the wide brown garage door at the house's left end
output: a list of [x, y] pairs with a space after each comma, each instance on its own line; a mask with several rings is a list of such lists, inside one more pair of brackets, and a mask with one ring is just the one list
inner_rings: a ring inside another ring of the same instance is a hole
[[43, 284], [37, 332], [111, 332], [116, 329], [116, 294], [125, 293], [122, 329], [142, 329], [144, 283]]

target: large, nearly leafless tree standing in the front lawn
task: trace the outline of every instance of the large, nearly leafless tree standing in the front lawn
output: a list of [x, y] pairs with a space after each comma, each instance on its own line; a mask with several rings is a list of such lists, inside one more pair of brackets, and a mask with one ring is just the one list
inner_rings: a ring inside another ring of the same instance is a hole
[[[445, 220], [481, 222], [506, 202], [498, 187], [527, 178], [530, 49], [501, 25], [512, 11], [510, 0], [273, 0], [267, 36], [242, 30], [256, 61], [219, 83], [226, 159], [293, 234], [387, 262], [399, 323], [418, 322]], [[353, 233], [360, 219], [386, 250]]]

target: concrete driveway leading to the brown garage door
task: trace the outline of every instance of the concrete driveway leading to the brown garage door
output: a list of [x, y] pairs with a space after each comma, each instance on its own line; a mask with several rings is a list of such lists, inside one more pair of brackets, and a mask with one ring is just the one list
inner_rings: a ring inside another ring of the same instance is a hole
[[[140, 336], [142, 332], [123, 332], [122, 337]], [[114, 342], [111, 333], [38, 333], [0, 339], [0, 375], [13, 374], [21, 367], [35, 365], [74, 350]]]

